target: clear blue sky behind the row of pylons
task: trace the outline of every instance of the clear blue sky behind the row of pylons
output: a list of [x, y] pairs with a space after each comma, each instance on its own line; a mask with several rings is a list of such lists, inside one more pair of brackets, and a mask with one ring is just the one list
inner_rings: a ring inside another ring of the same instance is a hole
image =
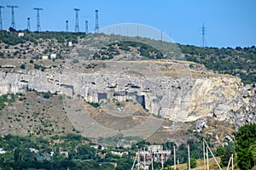
[[207, 47], [236, 48], [256, 45], [255, 0], [1, 0], [3, 29], [11, 26], [11, 10], [15, 8], [16, 30], [26, 29], [31, 18], [31, 30], [37, 26], [40, 11], [41, 31], [69, 31], [75, 29], [75, 11], [79, 8], [79, 30], [95, 30], [95, 10], [99, 10], [100, 28], [122, 23], [152, 26], [172, 37], [174, 42], [202, 45], [201, 27], [206, 27]]

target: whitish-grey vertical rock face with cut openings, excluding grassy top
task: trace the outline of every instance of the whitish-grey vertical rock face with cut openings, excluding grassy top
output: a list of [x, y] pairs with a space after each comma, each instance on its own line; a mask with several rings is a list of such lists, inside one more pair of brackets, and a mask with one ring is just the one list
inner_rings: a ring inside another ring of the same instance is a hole
[[128, 74], [62, 73], [29, 71], [0, 73], [0, 94], [24, 93], [27, 89], [59, 94], [79, 94], [88, 102], [104, 99], [137, 101], [154, 115], [177, 122], [203, 116], [229, 117], [247, 98], [237, 77], [135, 77]]

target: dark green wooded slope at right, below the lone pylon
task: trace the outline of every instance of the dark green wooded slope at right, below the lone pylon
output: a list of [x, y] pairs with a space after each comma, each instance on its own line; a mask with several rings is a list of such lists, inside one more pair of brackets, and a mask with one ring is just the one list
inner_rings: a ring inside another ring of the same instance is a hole
[[207, 69], [241, 77], [244, 83], [256, 82], [256, 48], [199, 48], [178, 45], [185, 58], [205, 65]]

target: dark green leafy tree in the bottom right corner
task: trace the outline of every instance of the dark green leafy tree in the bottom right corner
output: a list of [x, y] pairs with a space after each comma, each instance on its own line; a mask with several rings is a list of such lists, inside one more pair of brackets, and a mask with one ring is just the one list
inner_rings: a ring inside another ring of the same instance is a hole
[[[237, 164], [241, 169], [251, 169], [255, 165], [256, 124], [246, 124], [234, 133], [236, 139]], [[250, 148], [253, 147], [253, 148]]]

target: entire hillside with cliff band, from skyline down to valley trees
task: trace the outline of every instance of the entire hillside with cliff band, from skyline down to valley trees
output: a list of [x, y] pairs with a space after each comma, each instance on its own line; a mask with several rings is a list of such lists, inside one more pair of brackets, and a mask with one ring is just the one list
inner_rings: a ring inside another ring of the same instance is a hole
[[[202, 158], [202, 139], [214, 150], [233, 142], [238, 127], [256, 122], [254, 47], [198, 48], [71, 32], [25, 32], [18, 37], [18, 32], [1, 31], [0, 37], [0, 144], [9, 149], [12, 139], [50, 139], [44, 142], [49, 146], [33, 145], [44, 150], [40, 156], [48, 159], [50, 150], [61, 148], [70, 154], [67, 159], [49, 158], [55, 159], [52, 166], [69, 162], [81, 167], [90, 161], [99, 167], [108, 161], [109, 169], [115, 163], [130, 169], [135, 152], [149, 144], [163, 144], [171, 156], [177, 146], [182, 163], [188, 160], [186, 144]], [[66, 135], [109, 148], [90, 149], [95, 145], [90, 143], [77, 150], [79, 144], [60, 140]], [[93, 156], [79, 155], [87, 150]], [[128, 156], [116, 156], [113, 150]], [[15, 153], [9, 151], [14, 156], [9, 160], [17, 159]]]

